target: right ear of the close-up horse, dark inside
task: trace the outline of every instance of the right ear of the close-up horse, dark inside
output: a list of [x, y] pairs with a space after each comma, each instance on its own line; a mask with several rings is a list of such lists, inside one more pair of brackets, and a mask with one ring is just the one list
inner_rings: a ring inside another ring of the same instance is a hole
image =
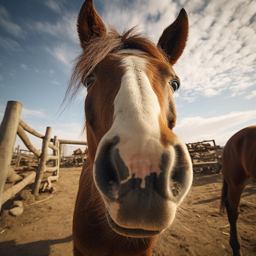
[[164, 29], [157, 46], [168, 56], [171, 65], [180, 58], [189, 35], [189, 19], [186, 11], [182, 8], [177, 19]]

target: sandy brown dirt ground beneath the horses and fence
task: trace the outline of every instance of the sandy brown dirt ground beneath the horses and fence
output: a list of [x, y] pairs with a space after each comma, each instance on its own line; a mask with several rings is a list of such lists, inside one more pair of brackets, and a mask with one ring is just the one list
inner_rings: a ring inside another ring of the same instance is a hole
[[[61, 168], [51, 198], [25, 207], [19, 217], [0, 216], [1, 256], [72, 255], [72, 215], [81, 168]], [[221, 175], [199, 175], [173, 225], [159, 236], [153, 256], [231, 255], [227, 214], [219, 214]], [[30, 189], [27, 187], [26, 189]], [[40, 194], [37, 200], [51, 194]], [[11, 201], [11, 200], [10, 200]], [[11, 207], [11, 202], [4, 209]], [[244, 256], [256, 255], [256, 183], [243, 192], [238, 218]]]

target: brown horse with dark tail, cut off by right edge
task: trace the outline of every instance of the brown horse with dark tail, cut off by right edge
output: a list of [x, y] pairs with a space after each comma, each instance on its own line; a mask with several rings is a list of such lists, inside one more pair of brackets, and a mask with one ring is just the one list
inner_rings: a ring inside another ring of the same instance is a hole
[[223, 187], [220, 209], [226, 206], [230, 223], [230, 245], [234, 256], [242, 256], [240, 238], [236, 231], [238, 205], [245, 186], [256, 181], [256, 126], [233, 135], [223, 151]]

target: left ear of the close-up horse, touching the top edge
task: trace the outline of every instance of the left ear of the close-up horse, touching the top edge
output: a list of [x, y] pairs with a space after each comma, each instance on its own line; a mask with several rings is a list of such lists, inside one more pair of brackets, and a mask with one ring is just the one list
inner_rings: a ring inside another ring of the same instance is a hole
[[78, 14], [76, 28], [82, 47], [91, 38], [106, 34], [106, 26], [94, 9], [93, 0], [83, 2]]

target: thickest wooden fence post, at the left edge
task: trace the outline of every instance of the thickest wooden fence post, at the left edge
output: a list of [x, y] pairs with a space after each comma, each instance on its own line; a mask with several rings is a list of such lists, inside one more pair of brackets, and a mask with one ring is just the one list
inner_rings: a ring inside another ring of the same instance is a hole
[[11, 164], [21, 110], [22, 104], [20, 102], [8, 101], [0, 126], [0, 210], [2, 207], [2, 193]]

